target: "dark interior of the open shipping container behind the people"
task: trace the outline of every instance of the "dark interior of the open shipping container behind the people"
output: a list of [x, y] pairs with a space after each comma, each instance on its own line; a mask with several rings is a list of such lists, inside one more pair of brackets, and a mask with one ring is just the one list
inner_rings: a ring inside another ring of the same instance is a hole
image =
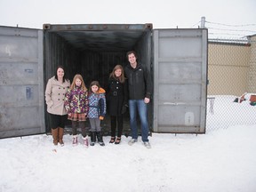
[[[151, 29], [150, 24], [108, 25], [107, 27], [106, 25], [44, 26], [44, 88], [47, 80], [54, 75], [57, 66], [61, 65], [65, 68], [70, 82], [76, 74], [81, 74], [87, 88], [93, 80], [97, 80], [106, 89], [108, 77], [113, 68], [117, 64], [122, 66], [129, 64], [126, 52], [131, 50], [138, 53], [138, 61], [151, 71]], [[149, 107], [148, 111], [149, 124], [151, 124], [150, 116], [152, 115], [150, 108], [152, 107]], [[51, 130], [50, 121], [45, 106], [46, 132]], [[86, 124], [89, 130], [90, 124]], [[108, 114], [101, 122], [101, 126], [105, 135], [109, 135]], [[125, 135], [130, 134], [129, 127], [127, 111], [124, 114]], [[71, 132], [69, 121], [65, 130]]]

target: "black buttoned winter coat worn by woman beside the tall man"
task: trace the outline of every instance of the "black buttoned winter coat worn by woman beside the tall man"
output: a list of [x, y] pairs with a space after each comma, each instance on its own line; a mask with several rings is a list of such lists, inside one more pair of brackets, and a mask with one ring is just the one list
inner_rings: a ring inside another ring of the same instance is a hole
[[108, 81], [107, 89], [108, 114], [110, 116], [121, 116], [122, 108], [128, 106], [128, 86], [127, 81], [120, 83], [111, 77]]

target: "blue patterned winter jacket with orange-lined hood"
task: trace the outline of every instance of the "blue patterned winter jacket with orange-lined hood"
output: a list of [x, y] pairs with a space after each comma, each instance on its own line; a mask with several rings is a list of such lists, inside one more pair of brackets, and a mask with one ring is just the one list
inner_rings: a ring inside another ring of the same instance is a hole
[[100, 88], [99, 92], [92, 92], [89, 97], [88, 118], [99, 118], [106, 115], [106, 97], [105, 90]]

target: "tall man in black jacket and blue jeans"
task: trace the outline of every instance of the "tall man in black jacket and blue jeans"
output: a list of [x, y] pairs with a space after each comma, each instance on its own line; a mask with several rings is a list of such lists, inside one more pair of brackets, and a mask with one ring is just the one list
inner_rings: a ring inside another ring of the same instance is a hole
[[136, 52], [126, 53], [130, 65], [124, 68], [124, 74], [128, 79], [130, 125], [132, 140], [129, 145], [138, 140], [137, 108], [140, 115], [141, 138], [146, 148], [151, 148], [148, 141], [148, 106], [152, 94], [152, 82], [148, 69], [137, 62]]

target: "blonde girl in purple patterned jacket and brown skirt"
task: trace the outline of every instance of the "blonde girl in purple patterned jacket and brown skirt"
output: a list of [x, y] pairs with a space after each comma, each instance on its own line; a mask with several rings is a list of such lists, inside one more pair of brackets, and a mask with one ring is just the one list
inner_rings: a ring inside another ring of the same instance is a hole
[[64, 105], [68, 111], [68, 119], [72, 122], [73, 146], [77, 145], [77, 127], [80, 127], [84, 145], [88, 148], [89, 142], [85, 132], [85, 120], [88, 114], [88, 92], [81, 75], [76, 74], [74, 76], [73, 82], [65, 95]]

